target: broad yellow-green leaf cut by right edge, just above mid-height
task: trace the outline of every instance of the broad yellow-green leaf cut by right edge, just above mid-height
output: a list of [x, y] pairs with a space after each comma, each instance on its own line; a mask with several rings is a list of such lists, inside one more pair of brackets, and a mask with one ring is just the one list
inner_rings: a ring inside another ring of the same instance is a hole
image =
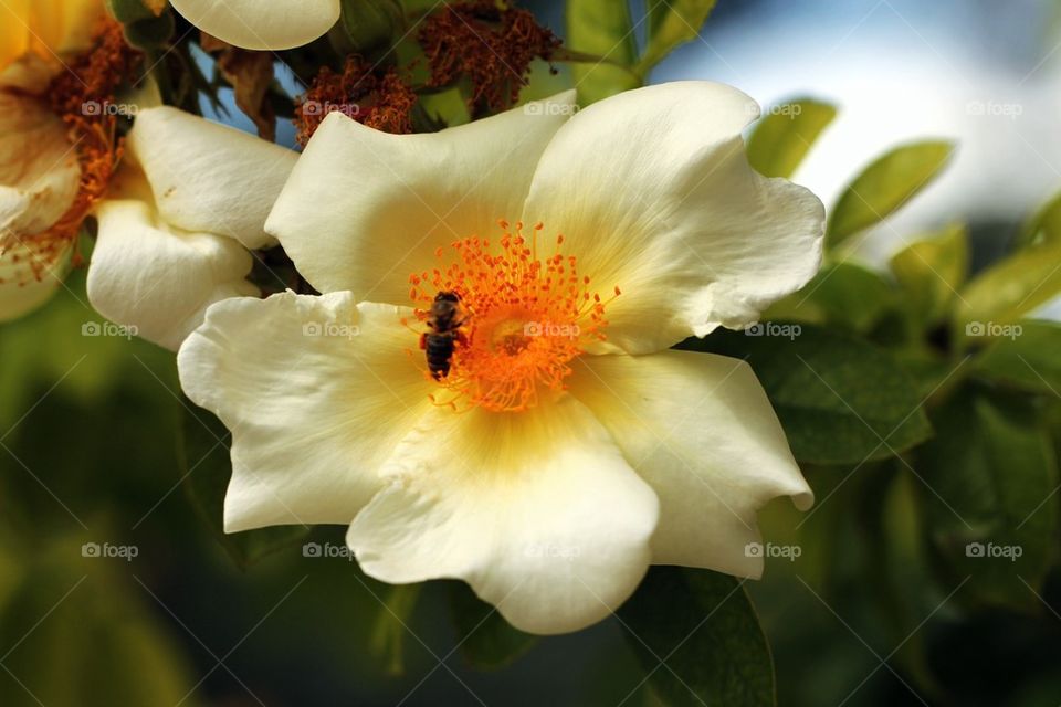
[[1061, 293], [1061, 241], [1017, 251], [962, 291], [954, 334], [968, 342], [1012, 335], [1025, 315]]

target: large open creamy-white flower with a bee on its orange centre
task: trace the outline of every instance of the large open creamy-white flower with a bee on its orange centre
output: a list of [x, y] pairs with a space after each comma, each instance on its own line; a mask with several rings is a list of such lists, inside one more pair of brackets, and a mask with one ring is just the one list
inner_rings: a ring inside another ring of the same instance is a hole
[[[806, 283], [822, 205], [748, 167], [733, 88], [572, 98], [318, 129], [266, 229], [326, 294], [214, 305], [178, 355], [232, 431], [229, 531], [349, 523], [372, 577], [463, 579], [537, 633], [608, 615], [650, 563], [759, 576], [756, 510], [811, 492], [748, 366], [670, 347]], [[443, 289], [469, 321], [434, 380], [411, 306]]]

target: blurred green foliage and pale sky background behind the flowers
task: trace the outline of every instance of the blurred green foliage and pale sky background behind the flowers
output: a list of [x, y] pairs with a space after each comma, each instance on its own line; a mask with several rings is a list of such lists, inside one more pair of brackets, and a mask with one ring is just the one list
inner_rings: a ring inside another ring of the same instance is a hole
[[[183, 20], [139, 2], [113, 7], [169, 99], [254, 129]], [[390, 50], [432, 3], [343, 4], [277, 55], [282, 118], [315, 54], [414, 70], [413, 38]], [[0, 326], [0, 704], [1061, 704], [1054, 7], [715, 4], [532, 2], [565, 46], [523, 97], [690, 76], [776, 101], [749, 159], [822, 194], [822, 271], [753, 335], [683, 347], [747, 359], [770, 395], [818, 498], [763, 514], [797, 557], [759, 582], [655, 568], [614, 618], [536, 639], [459, 582], [365, 577], [343, 528], [223, 536], [227, 431], [171, 355], [98, 336], [75, 270]], [[468, 120], [465, 98], [426, 95], [419, 127]]]

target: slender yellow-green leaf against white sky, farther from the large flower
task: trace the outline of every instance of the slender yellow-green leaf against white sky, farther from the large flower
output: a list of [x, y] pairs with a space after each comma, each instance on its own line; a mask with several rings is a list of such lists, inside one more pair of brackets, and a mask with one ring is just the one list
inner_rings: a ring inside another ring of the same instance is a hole
[[953, 151], [952, 143], [926, 140], [878, 158], [840, 196], [829, 217], [826, 244], [834, 247], [902, 207], [939, 173]]

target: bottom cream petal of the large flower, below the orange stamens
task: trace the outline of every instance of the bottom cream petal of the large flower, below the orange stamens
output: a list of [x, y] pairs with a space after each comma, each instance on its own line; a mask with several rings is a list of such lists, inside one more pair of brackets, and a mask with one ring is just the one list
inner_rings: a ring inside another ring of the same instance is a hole
[[614, 611], [650, 559], [658, 502], [567, 397], [534, 413], [429, 416], [347, 542], [368, 574], [459, 578], [517, 629], [561, 633]]

